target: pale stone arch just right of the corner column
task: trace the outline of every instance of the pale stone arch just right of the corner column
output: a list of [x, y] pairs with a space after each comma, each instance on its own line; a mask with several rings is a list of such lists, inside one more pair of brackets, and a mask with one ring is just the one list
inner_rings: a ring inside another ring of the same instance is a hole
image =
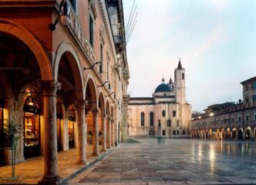
[[69, 60], [69, 65], [71, 66], [72, 73], [73, 73], [73, 78], [75, 79], [75, 84], [76, 84], [76, 96], [78, 99], [85, 99], [85, 93], [84, 93], [84, 80], [83, 80], [83, 67], [81, 65], [79, 55], [76, 52], [76, 49], [74, 46], [67, 42], [63, 41], [56, 52], [56, 56], [54, 59], [54, 79], [58, 81], [58, 74], [59, 74], [59, 64], [61, 62], [62, 56], [63, 55], [69, 55], [70, 60]]

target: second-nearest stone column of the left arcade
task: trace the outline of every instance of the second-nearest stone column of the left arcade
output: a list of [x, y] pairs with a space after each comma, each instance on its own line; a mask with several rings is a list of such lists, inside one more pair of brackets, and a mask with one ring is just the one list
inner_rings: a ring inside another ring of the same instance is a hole
[[79, 99], [77, 102], [77, 135], [78, 135], [78, 149], [77, 160], [78, 164], [86, 164], [86, 100]]

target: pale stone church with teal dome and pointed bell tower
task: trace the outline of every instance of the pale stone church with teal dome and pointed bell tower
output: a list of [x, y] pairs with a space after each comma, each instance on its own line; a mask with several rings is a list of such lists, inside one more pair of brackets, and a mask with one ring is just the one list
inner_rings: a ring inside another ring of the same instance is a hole
[[153, 97], [130, 97], [129, 136], [190, 137], [191, 106], [185, 96], [185, 69], [181, 62], [168, 83], [157, 86]]

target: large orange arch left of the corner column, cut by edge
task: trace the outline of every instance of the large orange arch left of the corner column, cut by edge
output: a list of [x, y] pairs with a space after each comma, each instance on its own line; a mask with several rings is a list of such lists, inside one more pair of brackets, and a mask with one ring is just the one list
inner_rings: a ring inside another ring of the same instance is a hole
[[43, 49], [42, 44], [38, 39], [35, 38], [32, 33], [27, 29], [18, 25], [14, 22], [7, 21], [5, 19], [0, 19], [0, 32], [5, 32], [8, 35], [12, 35], [15, 38], [21, 40], [31, 49], [32, 53], [35, 55], [41, 72], [42, 79], [52, 79], [52, 67], [49, 57], [46, 55], [45, 49]]

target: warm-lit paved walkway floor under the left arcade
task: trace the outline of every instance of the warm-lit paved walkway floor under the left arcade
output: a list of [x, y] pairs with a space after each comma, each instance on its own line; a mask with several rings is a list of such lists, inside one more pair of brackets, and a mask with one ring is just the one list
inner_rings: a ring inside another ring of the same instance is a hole
[[[111, 152], [112, 150], [109, 150]], [[107, 152], [107, 153], [109, 153]], [[100, 153], [101, 156], [92, 156], [93, 147], [86, 147], [86, 160], [87, 165], [79, 165], [76, 163], [77, 150], [71, 149], [68, 151], [62, 151], [58, 153], [58, 170], [59, 176], [63, 180], [69, 179], [78, 173], [79, 171], [84, 170], [86, 167], [89, 167], [92, 163], [100, 160], [102, 157], [106, 156], [107, 153]], [[12, 167], [0, 167], [0, 184], [1, 183], [26, 183], [26, 184], [37, 184], [43, 176], [43, 157], [38, 156], [29, 160], [25, 160], [24, 163], [16, 164], [16, 175], [19, 177], [18, 180], [8, 181], [5, 180], [5, 177], [12, 176]]]

